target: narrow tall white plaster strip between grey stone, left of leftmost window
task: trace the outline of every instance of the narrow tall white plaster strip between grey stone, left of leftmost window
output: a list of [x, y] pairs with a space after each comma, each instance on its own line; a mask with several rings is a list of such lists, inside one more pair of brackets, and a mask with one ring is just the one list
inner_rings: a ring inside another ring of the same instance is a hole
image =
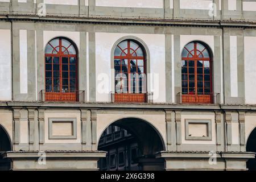
[[20, 93], [27, 93], [27, 30], [19, 30]]

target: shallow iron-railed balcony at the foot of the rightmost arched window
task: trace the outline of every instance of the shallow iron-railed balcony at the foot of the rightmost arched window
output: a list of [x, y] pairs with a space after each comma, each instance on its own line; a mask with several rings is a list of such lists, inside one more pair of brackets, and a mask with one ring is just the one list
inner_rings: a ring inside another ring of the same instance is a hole
[[220, 93], [177, 93], [178, 104], [220, 104]]

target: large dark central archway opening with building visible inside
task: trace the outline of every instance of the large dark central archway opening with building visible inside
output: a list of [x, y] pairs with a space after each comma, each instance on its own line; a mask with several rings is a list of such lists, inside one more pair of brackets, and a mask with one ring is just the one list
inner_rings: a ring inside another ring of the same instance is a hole
[[98, 168], [106, 171], [163, 170], [163, 159], [156, 152], [164, 150], [160, 134], [149, 123], [125, 118], [110, 125], [98, 143], [99, 151], [107, 151]]

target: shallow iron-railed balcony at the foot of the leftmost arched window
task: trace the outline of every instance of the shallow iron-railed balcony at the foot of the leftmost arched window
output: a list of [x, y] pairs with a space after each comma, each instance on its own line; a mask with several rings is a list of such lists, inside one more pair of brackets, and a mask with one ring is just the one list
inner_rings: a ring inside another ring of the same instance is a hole
[[46, 90], [41, 90], [42, 101], [48, 102], [84, 102], [85, 101], [85, 91], [84, 90], [74, 90], [72, 92], [46, 92]]

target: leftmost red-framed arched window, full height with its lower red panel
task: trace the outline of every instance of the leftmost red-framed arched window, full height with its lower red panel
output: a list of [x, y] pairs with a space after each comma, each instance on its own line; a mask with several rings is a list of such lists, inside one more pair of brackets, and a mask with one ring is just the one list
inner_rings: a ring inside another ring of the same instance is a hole
[[46, 101], [76, 101], [77, 53], [65, 38], [51, 40], [45, 51]]

